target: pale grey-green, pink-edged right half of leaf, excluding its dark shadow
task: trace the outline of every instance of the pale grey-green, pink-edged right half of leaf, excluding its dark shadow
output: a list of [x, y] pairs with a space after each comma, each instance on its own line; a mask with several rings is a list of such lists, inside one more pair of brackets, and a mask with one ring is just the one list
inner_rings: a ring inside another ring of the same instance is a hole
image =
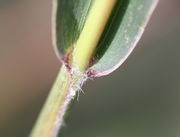
[[[127, 59], [139, 41], [157, 2], [157, 0], [129, 1], [121, 22], [116, 21], [118, 18], [114, 19], [114, 24], [110, 26], [110, 31], [106, 34], [105, 42], [100, 41], [100, 44], [106, 44], [104, 47], [107, 49], [103, 56], [90, 68], [94, 76], [108, 75]], [[121, 14], [121, 12], [118, 14]], [[116, 17], [118, 16], [116, 15]], [[119, 24], [115, 24], [116, 22]], [[111, 32], [113, 33], [117, 25], [119, 25], [119, 28], [109, 42], [108, 37], [111, 35]], [[97, 58], [97, 54], [95, 58]]]

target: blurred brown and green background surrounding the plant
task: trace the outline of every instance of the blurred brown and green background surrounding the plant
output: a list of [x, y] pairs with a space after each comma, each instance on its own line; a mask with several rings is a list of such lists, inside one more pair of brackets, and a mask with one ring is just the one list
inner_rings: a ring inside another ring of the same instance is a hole
[[[0, 0], [0, 137], [27, 137], [60, 63], [51, 0]], [[63, 137], [180, 136], [180, 1], [161, 0], [136, 49], [88, 81]]]

